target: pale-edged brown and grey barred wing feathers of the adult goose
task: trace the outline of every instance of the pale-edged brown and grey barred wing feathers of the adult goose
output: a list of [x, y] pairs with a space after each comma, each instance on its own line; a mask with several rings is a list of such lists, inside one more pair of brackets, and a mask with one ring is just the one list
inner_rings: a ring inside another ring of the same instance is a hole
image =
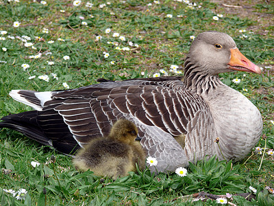
[[[189, 122], [195, 127], [198, 113], [210, 113], [200, 95], [186, 90], [180, 80], [132, 80], [121, 87], [117, 87], [121, 82], [101, 84], [103, 88], [95, 84], [94, 88], [53, 92], [53, 100], [45, 103], [43, 111], [53, 107], [80, 146], [99, 135], [108, 135], [116, 119], [129, 119], [138, 126], [147, 154], [158, 159], [158, 172], [188, 165], [192, 141], [188, 144], [186, 140], [184, 149], [173, 136], [187, 134]], [[43, 112], [40, 115], [44, 116]], [[199, 137], [197, 141], [201, 141]]]

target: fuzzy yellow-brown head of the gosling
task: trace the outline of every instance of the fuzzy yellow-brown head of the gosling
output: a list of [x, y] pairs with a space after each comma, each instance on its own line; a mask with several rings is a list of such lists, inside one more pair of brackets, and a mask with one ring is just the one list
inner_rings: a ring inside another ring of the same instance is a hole
[[134, 142], [138, 134], [138, 129], [133, 122], [127, 119], [119, 119], [110, 130], [109, 138], [126, 143]]

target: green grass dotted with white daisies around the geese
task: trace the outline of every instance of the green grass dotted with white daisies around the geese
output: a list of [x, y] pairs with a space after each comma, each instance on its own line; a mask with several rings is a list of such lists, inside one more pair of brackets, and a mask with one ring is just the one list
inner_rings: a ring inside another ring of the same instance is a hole
[[[82, 1], [78, 7], [73, 6], [73, 1], [64, 0], [47, 1], [46, 5], [22, 0], [19, 3], [0, 3], [0, 30], [8, 32], [0, 34], [0, 117], [31, 109], [9, 97], [12, 89], [51, 91], [64, 89], [63, 82], [70, 88], [77, 88], [94, 84], [97, 78], [142, 78], [153, 76], [160, 69], [175, 75], [169, 72], [169, 67], [184, 63], [192, 42], [190, 36], [217, 30], [231, 35], [242, 54], [264, 68], [262, 76], [238, 72], [222, 74], [221, 79], [259, 108], [264, 121], [263, 133], [267, 138], [260, 139], [258, 146], [264, 148], [266, 144], [268, 149], [265, 152], [274, 148], [274, 124], [271, 123], [274, 120], [274, 38], [271, 36], [271, 18], [262, 16], [261, 25], [253, 18], [254, 15], [249, 19], [249, 16], [244, 18], [225, 13], [219, 4], [210, 1], [197, 1], [201, 8], [194, 9], [184, 2], [169, 0], [160, 1], [160, 4], [145, 0], [110, 0], [110, 5], [95, 1], [92, 8], [85, 7], [86, 2]], [[99, 8], [102, 3], [106, 4], [105, 7]], [[273, 16], [273, 3], [258, 1], [252, 6], [253, 11], [259, 14]], [[220, 13], [212, 12], [216, 10]], [[173, 14], [173, 18], [167, 18], [167, 14]], [[223, 14], [223, 17], [214, 21], [212, 18], [216, 14]], [[79, 16], [84, 16], [84, 20]], [[14, 21], [19, 21], [21, 25], [13, 27]], [[82, 25], [82, 21], [88, 25]], [[44, 33], [43, 28], [49, 33]], [[111, 29], [109, 34], [105, 33], [107, 28]], [[125, 36], [126, 41], [113, 37], [114, 32]], [[262, 32], [266, 35], [263, 36]], [[9, 35], [15, 38], [11, 39]], [[23, 35], [31, 38], [27, 42], [34, 43], [36, 49], [25, 47], [25, 43], [16, 38]], [[96, 41], [99, 35], [102, 38]], [[58, 38], [65, 41], [58, 41]], [[138, 47], [130, 46], [129, 41], [138, 44]], [[130, 51], [118, 50], [117, 46], [129, 47]], [[103, 52], [108, 52], [110, 56], [105, 58]], [[42, 54], [40, 58], [29, 58], [38, 53]], [[66, 55], [70, 56], [69, 60], [64, 60]], [[48, 65], [48, 61], [53, 61], [54, 65]], [[22, 64], [28, 64], [29, 68], [24, 71]], [[51, 73], [55, 73], [58, 80]], [[49, 82], [38, 78], [42, 75], [48, 75]], [[36, 77], [29, 79], [29, 76]], [[240, 83], [232, 82], [234, 78], [240, 79]], [[46, 164], [51, 155], [55, 156], [55, 163]], [[262, 157], [253, 151], [249, 157], [233, 164], [214, 158], [199, 161], [196, 165], [190, 164], [188, 175], [184, 177], [177, 174], [152, 176], [149, 170], [145, 170], [112, 181], [94, 176], [92, 172], [77, 172], [71, 157], [41, 146], [12, 130], [3, 129], [0, 133], [0, 168], [12, 172], [0, 172], [0, 205], [45, 205], [45, 202], [47, 205], [217, 205], [210, 199], [190, 203], [191, 199], [179, 197], [201, 191], [211, 194], [251, 192], [250, 185], [258, 190], [256, 199], [249, 202], [234, 196], [232, 203], [271, 205], [273, 195], [264, 187], [274, 187], [273, 156], [265, 153]], [[31, 161], [41, 164], [33, 168]], [[27, 190], [25, 201], [17, 201], [11, 194], [3, 192], [3, 189], [17, 191], [20, 188]]]

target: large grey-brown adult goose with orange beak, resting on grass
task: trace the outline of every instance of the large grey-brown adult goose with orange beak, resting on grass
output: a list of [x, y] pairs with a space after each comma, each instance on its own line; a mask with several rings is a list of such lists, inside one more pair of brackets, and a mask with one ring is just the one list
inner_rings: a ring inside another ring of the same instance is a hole
[[[14, 100], [36, 111], [3, 117], [0, 127], [73, 154], [90, 139], [108, 135], [114, 122], [124, 118], [138, 127], [140, 144], [158, 160], [158, 172], [174, 171], [207, 155], [237, 161], [260, 138], [262, 117], [244, 95], [218, 77], [235, 70], [261, 73], [229, 35], [203, 32], [186, 56], [183, 80], [105, 80], [67, 91], [13, 90]], [[214, 142], [217, 138], [223, 155]]]

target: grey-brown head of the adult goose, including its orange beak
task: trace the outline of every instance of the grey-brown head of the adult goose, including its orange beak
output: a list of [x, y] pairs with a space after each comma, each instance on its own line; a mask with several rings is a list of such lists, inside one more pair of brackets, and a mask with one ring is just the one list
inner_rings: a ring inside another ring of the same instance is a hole
[[215, 76], [231, 71], [261, 73], [260, 67], [240, 53], [231, 36], [214, 31], [199, 34], [186, 57], [185, 76], [191, 72]]

